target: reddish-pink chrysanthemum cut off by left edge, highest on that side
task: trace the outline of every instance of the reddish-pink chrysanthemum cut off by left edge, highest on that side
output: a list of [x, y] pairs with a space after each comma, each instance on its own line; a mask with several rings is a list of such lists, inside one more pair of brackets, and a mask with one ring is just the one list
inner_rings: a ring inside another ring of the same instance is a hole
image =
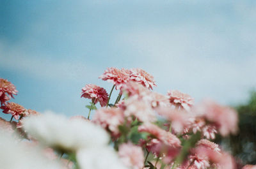
[[14, 98], [13, 95], [17, 95], [17, 90], [15, 85], [8, 80], [0, 78], [0, 102], [1, 105], [5, 105], [6, 101], [9, 101], [11, 98]]

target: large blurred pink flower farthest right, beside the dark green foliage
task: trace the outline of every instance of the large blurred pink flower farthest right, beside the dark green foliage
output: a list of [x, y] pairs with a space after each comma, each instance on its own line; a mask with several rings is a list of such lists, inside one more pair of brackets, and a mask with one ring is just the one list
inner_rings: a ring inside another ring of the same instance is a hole
[[195, 108], [195, 113], [212, 122], [222, 136], [237, 132], [238, 117], [232, 108], [222, 107], [213, 101], [204, 101]]

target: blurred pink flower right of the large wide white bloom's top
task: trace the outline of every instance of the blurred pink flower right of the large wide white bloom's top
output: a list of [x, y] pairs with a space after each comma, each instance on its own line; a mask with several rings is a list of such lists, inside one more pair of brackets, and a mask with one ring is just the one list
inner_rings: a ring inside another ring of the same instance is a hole
[[93, 122], [100, 124], [113, 137], [118, 137], [120, 135], [118, 126], [124, 123], [124, 114], [119, 108], [100, 108], [96, 111]]

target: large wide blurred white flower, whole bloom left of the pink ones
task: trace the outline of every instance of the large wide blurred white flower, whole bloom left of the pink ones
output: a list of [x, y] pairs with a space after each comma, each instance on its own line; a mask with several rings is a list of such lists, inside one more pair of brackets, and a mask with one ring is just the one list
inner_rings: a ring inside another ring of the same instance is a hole
[[65, 152], [105, 146], [109, 142], [108, 133], [100, 126], [57, 114], [28, 117], [24, 120], [24, 129], [45, 145]]

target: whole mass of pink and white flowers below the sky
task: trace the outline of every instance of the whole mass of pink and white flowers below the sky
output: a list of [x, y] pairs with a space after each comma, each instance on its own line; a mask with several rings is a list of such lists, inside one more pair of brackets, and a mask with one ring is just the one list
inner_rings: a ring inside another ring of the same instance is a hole
[[[87, 119], [82, 115], [67, 118], [39, 114], [8, 102], [17, 91], [13, 84], [0, 78], [1, 109], [15, 119], [0, 119], [0, 132], [4, 133], [0, 148], [12, 150], [7, 156], [0, 153], [0, 159], [19, 158], [21, 168], [36, 168], [34, 163], [76, 169], [237, 168], [231, 154], [214, 143], [216, 135], [236, 134], [238, 118], [232, 108], [209, 100], [195, 104], [194, 98], [177, 90], [165, 95], [154, 92], [154, 77], [140, 68], [107, 68], [99, 78], [113, 87], [109, 93], [94, 84], [82, 88], [81, 98], [92, 101], [86, 105]], [[118, 91], [114, 102], [113, 89]], [[22, 133], [15, 136], [20, 147], [15, 141], [6, 143], [10, 137], [6, 133], [16, 130]], [[5, 143], [7, 147], [3, 146]], [[43, 155], [33, 157], [31, 145]], [[30, 146], [31, 155], [22, 160], [22, 147], [26, 146]], [[26, 165], [29, 158], [35, 159], [31, 162], [33, 167]], [[20, 167], [4, 162], [0, 168]]]

